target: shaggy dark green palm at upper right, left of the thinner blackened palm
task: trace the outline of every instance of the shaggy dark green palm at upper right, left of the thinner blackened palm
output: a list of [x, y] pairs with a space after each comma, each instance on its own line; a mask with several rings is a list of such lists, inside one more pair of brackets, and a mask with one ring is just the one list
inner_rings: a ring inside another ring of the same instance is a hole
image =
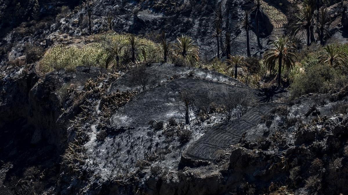
[[[303, 8], [300, 10], [300, 13], [296, 16], [298, 21], [292, 26], [293, 33], [307, 33], [307, 45], [310, 45], [311, 34], [313, 33], [314, 28], [314, 17], [316, 11], [314, 11], [313, 6], [310, 3], [304, 3]], [[312, 35], [313, 36], [313, 35]]]

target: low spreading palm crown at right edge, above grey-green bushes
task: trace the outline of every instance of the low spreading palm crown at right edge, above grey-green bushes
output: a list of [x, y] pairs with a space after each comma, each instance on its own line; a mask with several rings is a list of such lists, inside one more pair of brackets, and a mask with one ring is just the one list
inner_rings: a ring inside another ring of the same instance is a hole
[[337, 45], [326, 45], [323, 49], [319, 51], [319, 62], [329, 62], [329, 65], [334, 68], [341, 67], [346, 62], [347, 56]]

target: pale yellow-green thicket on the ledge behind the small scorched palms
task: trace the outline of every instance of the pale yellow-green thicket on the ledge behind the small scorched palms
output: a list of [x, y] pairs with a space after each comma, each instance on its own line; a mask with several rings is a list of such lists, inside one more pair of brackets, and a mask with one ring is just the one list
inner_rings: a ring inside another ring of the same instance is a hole
[[[57, 45], [46, 52], [38, 63], [38, 67], [43, 74], [62, 69], [74, 71], [77, 66], [105, 68], [108, 54], [106, 48], [116, 42], [124, 45], [124, 50], [121, 53], [122, 58], [120, 59], [120, 63], [122, 63], [123, 58], [127, 57], [129, 53], [127, 51], [128, 37], [129, 34], [103, 33], [90, 36], [89, 38], [93, 42], [82, 47]], [[140, 38], [137, 37], [137, 39]], [[163, 58], [161, 56], [163, 52], [160, 51], [159, 44], [147, 39], [140, 39], [140, 42], [146, 46], [142, 46], [141, 51], [137, 52], [136, 59], [139, 62], [144, 60], [158, 62]], [[111, 63], [116, 63], [116, 61]], [[109, 67], [111, 68], [112, 66]]]

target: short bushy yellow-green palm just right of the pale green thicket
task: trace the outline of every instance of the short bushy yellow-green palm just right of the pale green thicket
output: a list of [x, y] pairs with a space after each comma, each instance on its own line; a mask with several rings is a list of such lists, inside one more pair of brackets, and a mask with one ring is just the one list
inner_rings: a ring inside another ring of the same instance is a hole
[[191, 56], [199, 59], [199, 48], [197, 45], [195, 45], [195, 41], [191, 39], [189, 36], [181, 35], [181, 37], [177, 37], [175, 46], [175, 52], [179, 55], [181, 55], [184, 59], [186, 59], [187, 56]]

